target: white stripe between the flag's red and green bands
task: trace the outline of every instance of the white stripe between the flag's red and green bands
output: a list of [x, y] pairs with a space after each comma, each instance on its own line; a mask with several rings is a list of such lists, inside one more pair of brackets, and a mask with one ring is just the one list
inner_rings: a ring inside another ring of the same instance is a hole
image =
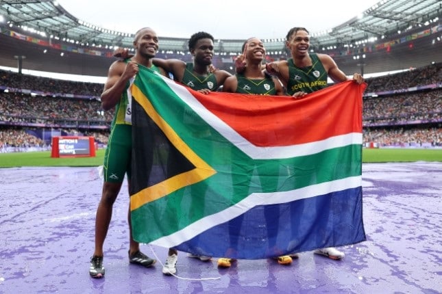
[[198, 115], [203, 118], [208, 124], [216, 129], [223, 137], [235, 144], [241, 151], [247, 154], [252, 159], [286, 159], [291, 157], [299, 157], [305, 155], [312, 155], [323, 150], [331, 148], [339, 148], [342, 146], [348, 146], [351, 144], [362, 144], [362, 133], [348, 133], [345, 135], [339, 135], [323, 139], [322, 141], [297, 144], [292, 146], [274, 146], [274, 147], [260, 147], [251, 144], [247, 139], [236, 133], [228, 124], [225, 124], [223, 120], [215, 116], [212, 112], [208, 111], [204, 105], [202, 105], [196, 98], [188, 92], [188, 90], [182, 85], [173, 83], [172, 81], [164, 78], [164, 81], [169, 87], [182, 98], [182, 101], [193, 109]]

